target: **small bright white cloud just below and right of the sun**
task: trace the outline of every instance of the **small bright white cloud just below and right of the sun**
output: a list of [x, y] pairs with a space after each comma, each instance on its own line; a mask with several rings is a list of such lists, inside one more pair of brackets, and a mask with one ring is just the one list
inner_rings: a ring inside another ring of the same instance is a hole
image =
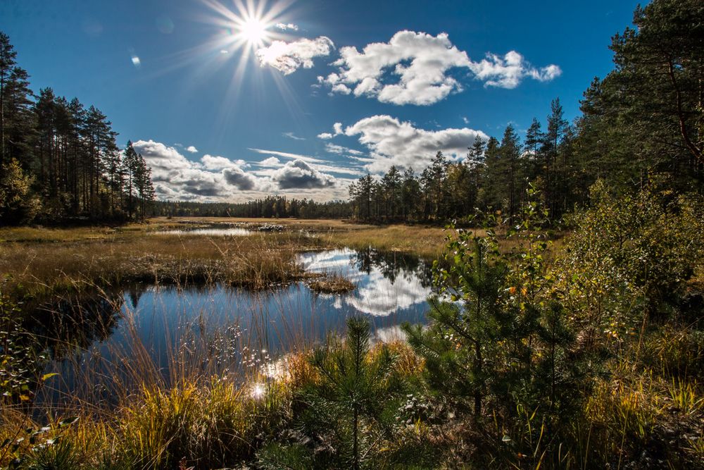
[[312, 68], [313, 58], [329, 56], [334, 49], [329, 37], [320, 36], [294, 42], [274, 41], [268, 47], [257, 49], [256, 56], [260, 66], [270, 66], [289, 75], [301, 67]]

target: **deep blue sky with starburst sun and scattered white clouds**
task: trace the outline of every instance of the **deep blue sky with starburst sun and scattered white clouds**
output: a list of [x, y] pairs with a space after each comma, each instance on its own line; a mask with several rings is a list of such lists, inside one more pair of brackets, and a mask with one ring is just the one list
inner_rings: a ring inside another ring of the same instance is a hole
[[[345, 197], [567, 118], [637, 1], [4, 0], [32, 88], [106, 113], [162, 199]], [[189, 149], [191, 151], [189, 151]]]

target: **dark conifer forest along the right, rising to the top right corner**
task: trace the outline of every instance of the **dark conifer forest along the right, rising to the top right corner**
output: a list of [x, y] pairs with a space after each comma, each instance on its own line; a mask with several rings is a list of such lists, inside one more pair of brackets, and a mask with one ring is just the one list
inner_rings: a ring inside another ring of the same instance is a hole
[[[612, 38], [615, 68], [594, 78], [569, 123], [560, 100], [523, 137], [477, 139], [460, 161], [438, 151], [429, 166], [391, 166], [349, 186], [353, 216], [370, 221], [469, 221], [500, 212], [515, 221], [532, 185], [551, 219], [586, 204], [597, 180], [624, 193], [657, 183], [704, 190], [704, 32], [696, 2], [637, 8], [635, 28]], [[690, 8], [691, 7], [691, 8]], [[689, 9], [688, 9], [689, 8]], [[688, 23], [689, 22], [689, 23]]]

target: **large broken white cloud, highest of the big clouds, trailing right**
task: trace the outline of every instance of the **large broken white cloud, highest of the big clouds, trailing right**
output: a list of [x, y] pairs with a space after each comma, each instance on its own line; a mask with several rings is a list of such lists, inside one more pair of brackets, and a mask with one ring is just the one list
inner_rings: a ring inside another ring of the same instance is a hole
[[503, 58], [487, 54], [474, 62], [446, 33], [432, 36], [413, 31], [399, 31], [389, 42], [367, 44], [361, 52], [356, 47], [343, 47], [333, 65], [336, 72], [318, 77], [331, 93], [420, 106], [462, 91], [460, 82], [450, 75], [453, 69], [467, 69], [486, 86], [505, 88], [516, 87], [523, 78], [548, 81], [561, 73], [555, 65], [534, 68], [516, 51]]

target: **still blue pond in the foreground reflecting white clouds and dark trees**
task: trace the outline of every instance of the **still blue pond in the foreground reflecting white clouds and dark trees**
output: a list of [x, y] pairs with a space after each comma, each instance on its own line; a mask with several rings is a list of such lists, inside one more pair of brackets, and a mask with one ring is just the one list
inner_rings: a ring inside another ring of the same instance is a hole
[[283, 353], [344, 333], [351, 315], [369, 319], [377, 340], [400, 337], [403, 322], [425, 323], [427, 261], [335, 249], [298, 254], [298, 263], [344, 276], [356, 290], [316, 293], [303, 281], [268, 290], [140, 284], [39, 307], [35, 333], [51, 338], [45, 372], [59, 374], [43, 399], [109, 401], [145, 376], [173, 383], [189, 371], [266, 369]]

